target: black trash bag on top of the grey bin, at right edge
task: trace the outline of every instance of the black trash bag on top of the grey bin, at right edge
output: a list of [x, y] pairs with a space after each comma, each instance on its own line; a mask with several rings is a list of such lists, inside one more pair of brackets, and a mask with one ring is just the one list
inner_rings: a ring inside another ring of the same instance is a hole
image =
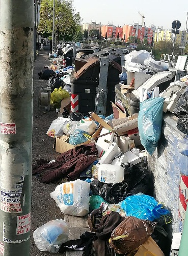
[[188, 88], [186, 88], [180, 96], [174, 112], [179, 117], [177, 129], [188, 135]]

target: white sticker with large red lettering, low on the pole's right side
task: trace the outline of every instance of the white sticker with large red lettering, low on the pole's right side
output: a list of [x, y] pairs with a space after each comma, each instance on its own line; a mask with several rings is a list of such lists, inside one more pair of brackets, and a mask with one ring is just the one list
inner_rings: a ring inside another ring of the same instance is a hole
[[16, 234], [24, 234], [31, 229], [31, 213], [17, 217]]

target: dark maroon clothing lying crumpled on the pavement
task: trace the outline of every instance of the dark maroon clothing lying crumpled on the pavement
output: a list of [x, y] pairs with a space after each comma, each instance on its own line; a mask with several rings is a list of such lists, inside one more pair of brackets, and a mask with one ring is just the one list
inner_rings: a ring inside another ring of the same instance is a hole
[[96, 160], [95, 143], [77, 146], [61, 154], [56, 162], [33, 166], [32, 174], [38, 175], [42, 182], [50, 183], [66, 178], [76, 180], [79, 174]]

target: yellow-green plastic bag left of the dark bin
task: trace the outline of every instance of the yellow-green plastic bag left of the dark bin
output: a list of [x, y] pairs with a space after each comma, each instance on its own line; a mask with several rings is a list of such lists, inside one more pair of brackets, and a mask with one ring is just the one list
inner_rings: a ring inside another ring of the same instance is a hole
[[70, 97], [69, 93], [62, 89], [62, 87], [55, 88], [54, 91], [51, 93], [50, 97], [50, 105], [52, 105], [56, 109], [60, 109], [61, 101], [64, 98]]

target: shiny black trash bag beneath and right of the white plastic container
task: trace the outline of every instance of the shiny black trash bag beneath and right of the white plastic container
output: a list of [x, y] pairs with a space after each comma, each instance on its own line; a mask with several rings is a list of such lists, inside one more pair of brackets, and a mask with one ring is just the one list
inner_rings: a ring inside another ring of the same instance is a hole
[[94, 179], [91, 183], [91, 190], [108, 203], [118, 204], [126, 197], [138, 193], [146, 194], [150, 188], [150, 176], [146, 167], [130, 164], [122, 164], [124, 167], [124, 181], [119, 183], [102, 183]]

